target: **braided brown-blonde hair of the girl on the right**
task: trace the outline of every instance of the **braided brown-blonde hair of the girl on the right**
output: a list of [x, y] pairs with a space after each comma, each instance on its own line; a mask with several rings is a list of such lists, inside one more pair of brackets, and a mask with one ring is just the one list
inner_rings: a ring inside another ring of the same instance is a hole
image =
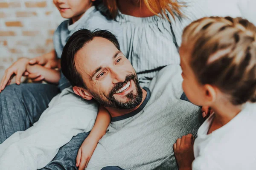
[[183, 31], [182, 46], [201, 84], [230, 96], [234, 105], [256, 102], [256, 27], [248, 20], [205, 17]]

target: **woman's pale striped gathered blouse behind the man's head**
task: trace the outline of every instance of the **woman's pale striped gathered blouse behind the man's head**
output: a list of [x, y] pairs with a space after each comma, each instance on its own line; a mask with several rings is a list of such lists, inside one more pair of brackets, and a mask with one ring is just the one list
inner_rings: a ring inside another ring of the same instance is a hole
[[[125, 56], [137, 71], [141, 85], [146, 85], [160, 71], [170, 64], [180, 64], [178, 46], [181, 43], [183, 28], [194, 20], [209, 15], [225, 16], [230, 14], [228, 8], [236, 6], [238, 0], [182, 0], [184, 17], [169, 14], [166, 17], [133, 17], [118, 12], [116, 21], [123, 29], [123, 41], [119, 42]], [[220, 1], [221, 3], [218, 4]], [[218, 11], [222, 4], [223, 10]], [[106, 11], [104, 6], [98, 6]], [[237, 7], [235, 7], [237, 8]], [[236, 9], [233, 13], [236, 13]], [[234, 16], [234, 15], [232, 15]]]

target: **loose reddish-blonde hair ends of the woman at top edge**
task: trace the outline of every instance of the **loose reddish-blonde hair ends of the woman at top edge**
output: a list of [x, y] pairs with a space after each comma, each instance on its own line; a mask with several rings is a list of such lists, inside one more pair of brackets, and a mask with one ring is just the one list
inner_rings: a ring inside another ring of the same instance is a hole
[[[142, 0], [139, 0], [140, 2]], [[148, 9], [155, 15], [161, 14], [161, 16], [166, 16], [166, 11], [168, 11], [173, 18], [175, 14], [181, 16], [182, 12], [180, 8], [183, 6], [183, 3], [179, 3], [177, 0], [143, 0]], [[117, 14], [117, 3], [116, 0], [103, 0], [103, 3], [108, 8], [113, 18]]]

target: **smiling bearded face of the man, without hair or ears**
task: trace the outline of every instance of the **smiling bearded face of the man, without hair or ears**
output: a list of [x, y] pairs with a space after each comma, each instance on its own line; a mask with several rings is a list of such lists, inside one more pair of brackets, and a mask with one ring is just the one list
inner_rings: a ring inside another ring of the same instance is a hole
[[105, 107], [132, 109], [142, 101], [137, 74], [112, 42], [94, 37], [75, 55], [77, 71], [90, 95]]

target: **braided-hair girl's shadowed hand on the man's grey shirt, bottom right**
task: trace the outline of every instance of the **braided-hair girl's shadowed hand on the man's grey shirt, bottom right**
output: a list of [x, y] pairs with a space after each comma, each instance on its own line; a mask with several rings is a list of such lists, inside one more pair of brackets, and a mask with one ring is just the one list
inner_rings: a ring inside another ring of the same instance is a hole
[[179, 170], [192, 170], [192, 162], [194, 161], [193, 152], [193, 135], [188, 134], [177, 139], [173, 145], [175, 158], [179, 166]]

